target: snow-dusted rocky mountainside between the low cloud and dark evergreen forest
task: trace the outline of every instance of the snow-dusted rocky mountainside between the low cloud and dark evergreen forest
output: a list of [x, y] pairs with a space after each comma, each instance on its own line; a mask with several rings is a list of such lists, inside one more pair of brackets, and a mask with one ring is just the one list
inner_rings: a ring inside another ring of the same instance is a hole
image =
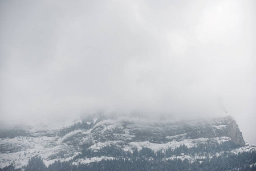
[[200, 121], [92, 116], [61, 129], [1, 128], [0, 136], [2, 168], [11, 163], [21, 167], [36, 155], [40, 155], [46, 165], [56, 160], [67, 161], [83, 150], [100, 151], [106, 146], [131, 152], [145, 147], [157, 152], [181, 145], [193, 148], [229, 142], [237, 148], [245, 146], [242, 133], [231, 116]]

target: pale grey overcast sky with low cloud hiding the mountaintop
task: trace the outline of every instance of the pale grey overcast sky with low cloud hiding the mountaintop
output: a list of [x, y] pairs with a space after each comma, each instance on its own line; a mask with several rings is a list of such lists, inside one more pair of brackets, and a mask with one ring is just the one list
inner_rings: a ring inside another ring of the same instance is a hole
[[256, 143], [256, 1], [1, 1], [1, 121], [217, 116]]

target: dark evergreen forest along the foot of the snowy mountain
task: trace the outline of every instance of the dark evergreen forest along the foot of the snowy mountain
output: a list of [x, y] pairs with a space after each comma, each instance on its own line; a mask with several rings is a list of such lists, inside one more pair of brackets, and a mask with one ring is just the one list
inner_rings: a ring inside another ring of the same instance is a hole
[[[226, 150], [225, 150], [226, 149]], [[141, 150], [133, 149], [127, 152], [113, 146], [105, 146], [98, 151], [91, 149], [83, 150], [70, 161], [55, 161], [46, 167], [40, 157], [32, 157], [24, 170], [256, 170], [256, 152], [231, 153], [234, 144], [225, 143], [221, 145], [198, 145], [188, 148], [181, 145], [176, 149], [166, 149], [156, 153], [150, 148]], [[214, 153], [215, 152], [215, 153]], [[214, 155], [217, 154], [218, 155]], [[211, 155], [210, 155], [211, 154]], [[188, 155], [191, 160], [178, 158]], [[101, 160], [88, 164], [78, 163], [79, 158], [90, 157], [114, 157], [113, 160]], [[176, 157], [175, 157], [176, 156]], [[209, 157], [210, 156], [210, 157]], [[170, 160], [170, 158], [172, 158]], [[201, 157], [201, 159], [200, 159]], [[74, 165], [76, 163], [76, 165]], [[13, 165], [6, 166], [2, 170], [15, 169]], [[1, 169], [0, 169], [1, 171]]]

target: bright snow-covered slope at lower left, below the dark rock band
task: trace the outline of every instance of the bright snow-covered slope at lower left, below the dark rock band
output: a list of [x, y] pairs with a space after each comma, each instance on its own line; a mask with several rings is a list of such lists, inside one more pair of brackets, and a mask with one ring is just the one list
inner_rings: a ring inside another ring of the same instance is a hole
[[[66, 144], [62, 146], [58, 144], [58, 137], [15, 137], [14, 139], [1, 140], [0, 146], [2, 148], [8, 148], [8, 146], [16, 146], [19, 148], [17, 152], [1, 152], [0, 153], [0, 167], [4, 168], [11, 163], [14, 163], [15, 168], [21, 168], [27, 165], [27, 162], [31, 157], [41, 156], [44, 163], [49, 164], [56, 161], [68, 161], [74, 156], [79, 154], [75, 150], [71, 149]], [[52, 158], [56, 153], [62, 152], [64, 149], [68, 149], [68, 152], [73, 155], [66, 158]]]

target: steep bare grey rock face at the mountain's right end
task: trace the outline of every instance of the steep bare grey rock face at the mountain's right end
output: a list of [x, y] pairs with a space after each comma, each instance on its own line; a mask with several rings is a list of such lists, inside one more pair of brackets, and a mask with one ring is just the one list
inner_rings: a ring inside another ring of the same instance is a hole
[[226, 116], [227, 134], [230, 139], [238, 145], [245, 146], [245, 140], [243, 140], [242, 132], [238, 128], [237, 123], [231, 116]]

